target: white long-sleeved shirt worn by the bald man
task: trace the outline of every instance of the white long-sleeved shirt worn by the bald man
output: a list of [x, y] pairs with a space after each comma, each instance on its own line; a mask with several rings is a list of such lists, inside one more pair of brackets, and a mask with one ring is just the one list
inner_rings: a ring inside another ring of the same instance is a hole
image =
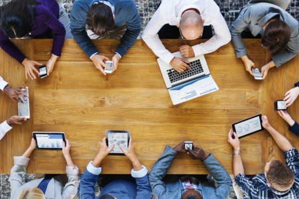
[[231, 40], [228, 26], [214, 0], [162, 0], [142, 38], [153, 53], [166, 63], [170, 63], [174, 56], [166, 50], [157, 33], [167, 23], [179, 24], [182, 12], [189, 8], [199, 10], [205, 20], [203, 25], [213, 25], [215, 30], [215, 35], [208, 41], [192, 46], [195, 56], [211, 53]]

